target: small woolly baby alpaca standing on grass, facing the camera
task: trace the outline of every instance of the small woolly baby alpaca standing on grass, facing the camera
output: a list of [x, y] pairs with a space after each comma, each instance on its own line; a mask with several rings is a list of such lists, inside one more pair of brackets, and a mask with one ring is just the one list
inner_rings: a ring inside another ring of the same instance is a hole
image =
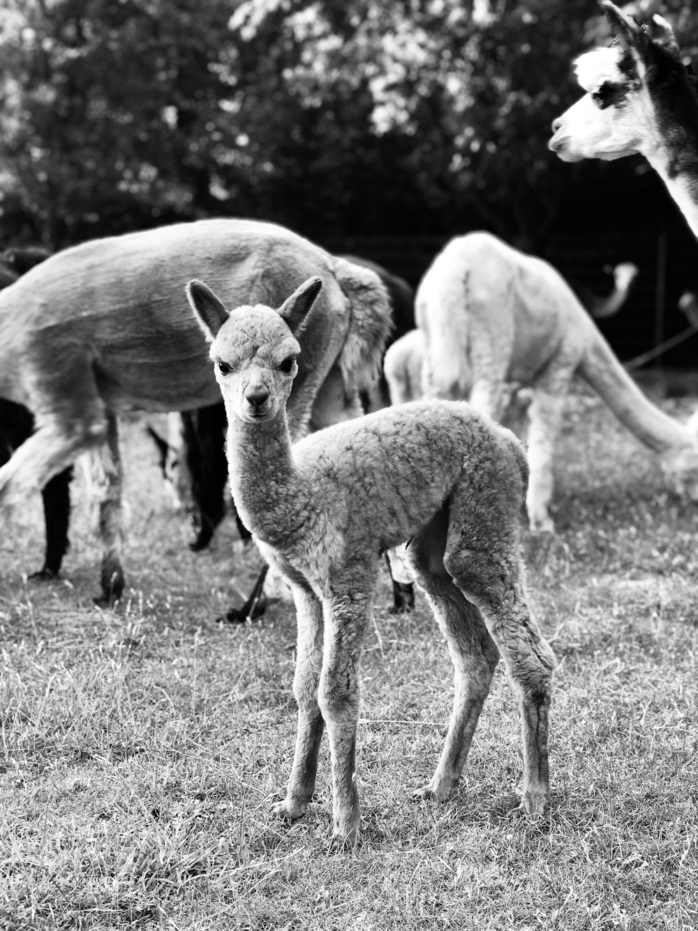
[[257, 304], [228, 314], [205, 284], [187, 286], [225, 402], [235, 506], [296, 603], [298, 735], [287, 795], [275, 811], [297, 818], [307, 810], [327, 726], [333, 840], [358, 840], [359, 660], [381, 555], [409, 540], [455, 668], [446, 744], [434, 776], [414, 795], [441, 802], [457, 784], [502, 656], [523, 731], [516, 810], [540, 816], [549, 797], [555, 658], [530, 617], [519, 556], [524, 452], [461, 401], [385, 408], [291, 445], [286, 404], [298, 337], [321, 287], [309, 278], [278, 311]]

